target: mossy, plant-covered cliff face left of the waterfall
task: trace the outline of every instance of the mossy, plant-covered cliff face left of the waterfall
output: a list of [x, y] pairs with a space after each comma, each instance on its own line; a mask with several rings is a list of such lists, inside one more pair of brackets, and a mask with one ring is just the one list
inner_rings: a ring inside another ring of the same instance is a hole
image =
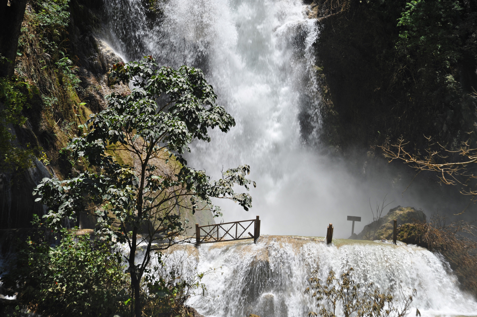
[[[61, 149], [81, 133], [89, 115], [106, 106], [111, 92], [129, 93], [111, 84], [107, 72], [121, 58], [102, 40], [101, 1], [28, 1], [22, 22], [15, 78], [27, 83], [22, 115], [11, 125], [13, 143], [44, 159], [31, 167], [0, 171], [0, 228], [30, 226], [32, 214], [46, 206], [35, 203], [33, 188], [43, 177], [64, 178], [85, 166], [72, 164]], [[56, 15], [56, 17], [55, 17]], [[83, 217], [77, 225], [91, 227]]]

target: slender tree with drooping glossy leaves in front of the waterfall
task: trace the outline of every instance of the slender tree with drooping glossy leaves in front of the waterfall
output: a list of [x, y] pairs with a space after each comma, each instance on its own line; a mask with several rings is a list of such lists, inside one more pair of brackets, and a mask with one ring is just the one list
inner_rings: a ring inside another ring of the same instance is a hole
[[[250, 195], [236, 194], [232, 187], [238, 184], [249, 190], [252, 182], [246, 178], [248, 165], [229, 169], [222, 179], [211, 182], [204, 171], [188, 167], [182, 156], [190, 151], [192, 141], [210, 141], [208, 128], [226, 133], [235, 125], [216, 104], [217, 96], [201, 70], [158, 68], [148, 56], [115, 64], [111, 76], [131, 82], [131, 94], [108, 96], [108, 107], [87, 122], [89, 133], [66, 147], [73, 159], [87, 160], [90, 168], [68, 180], [44, 178], [33, 194], [51, 207], [44, 217], [54, 229], [74, 221], [84, 210], [94, 210], [95, 233], [111, 243], [126, 243], [134, 314], [139, 317], [140, 283], [151, 252], [177, 243], [184, 230], [176, 208], [192, 213], [210, 210], [218, 216], [220, 208], [211, 202], [217, 197], [232, 199], [248, 210]], [[130, 155], [134, 163], [119, 164], [106, 151]], [[136, 256], [140, 244], [142, 259]]]

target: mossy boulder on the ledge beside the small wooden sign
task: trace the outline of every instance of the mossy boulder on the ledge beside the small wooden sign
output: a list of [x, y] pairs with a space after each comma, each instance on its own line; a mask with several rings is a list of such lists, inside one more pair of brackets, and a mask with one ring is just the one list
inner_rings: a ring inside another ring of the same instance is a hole
[[[422, 210], [416, 210], [414, 207], [397, 206], [390, 209], [389, 212], [380, 219], [373, 221], [369, 225], [365, 225], [363, 231], [357, 235], [357, 238], [362, 240], [391, 240], [393, 238], [394, 219], [397, 220], [399, 227], [405, 224], [425, 222], [426, 216]], [[403, 231], [403, 236], [404, 235]], [[399, 238], [398, 240], [402, 241]]]

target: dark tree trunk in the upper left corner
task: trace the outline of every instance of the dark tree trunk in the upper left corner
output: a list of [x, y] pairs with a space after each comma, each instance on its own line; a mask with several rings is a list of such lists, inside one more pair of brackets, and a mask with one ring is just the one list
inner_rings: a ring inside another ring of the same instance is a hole
[[15, 71], [18, 37], [27, 0], [0, 0], [0, 77], [11, 77]]

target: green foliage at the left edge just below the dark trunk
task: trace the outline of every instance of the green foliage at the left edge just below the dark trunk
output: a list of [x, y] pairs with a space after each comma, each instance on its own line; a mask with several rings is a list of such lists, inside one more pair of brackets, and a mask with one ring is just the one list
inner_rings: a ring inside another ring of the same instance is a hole
[[29, 105], [28, 84], [6, 78], [0, 78], [0, 170], [11, 172], [28, 168], [32, 164], [33, 150], [27, 144], [21, 148], [15, 144], [14, 126], [26, 122], [22, 111]]

